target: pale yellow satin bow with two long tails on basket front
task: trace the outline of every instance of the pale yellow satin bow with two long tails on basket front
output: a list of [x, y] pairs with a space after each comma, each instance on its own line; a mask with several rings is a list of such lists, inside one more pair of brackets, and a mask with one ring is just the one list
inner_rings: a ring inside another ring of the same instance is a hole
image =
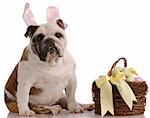
[[[101, 115], [104, 116], [107, 111], [114, 115], [113, 107], [113, 96], [111, 83], [116, 85], [122, 99], [125, 101], [127, 106], [132, 110], [133, 101], [137, 101], [136, 97], [125, 81], [125, 74], [123, 72], [116, 72], [111, 77], [100, 76], [97, 79], [96, 85], [100, 89], [100, 100], [101, 100]], [[111, 82], [111, 83], [110, 83]]]

